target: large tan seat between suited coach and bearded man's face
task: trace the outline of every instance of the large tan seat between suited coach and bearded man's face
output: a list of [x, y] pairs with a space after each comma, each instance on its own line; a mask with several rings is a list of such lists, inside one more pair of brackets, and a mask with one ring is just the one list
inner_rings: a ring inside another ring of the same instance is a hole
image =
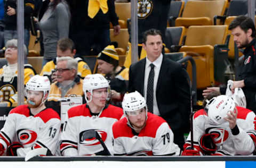
[[[227, 26], [190, 26], [187, 31], [185, 45], [180, 52], [186, 52], [196, 62], [197, 89], [215, 85], [215, 80], [222, 81], [225, 71], [224, 61], [227, 55], [225, 47]], [[222, 48], [214, 49], [222, 45]], [[219, 53], [214, 53], [218, 51]], [[191, 65], [187, 71], [191, 78]], [[221, 80], [221, 79], [222, 80]]]

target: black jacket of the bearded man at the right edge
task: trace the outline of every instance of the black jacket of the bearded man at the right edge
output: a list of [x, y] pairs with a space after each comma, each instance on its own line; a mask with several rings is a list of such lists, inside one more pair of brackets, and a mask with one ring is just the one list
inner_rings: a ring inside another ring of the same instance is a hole
[[[245, 48], [244, 63], [239, 67], [238, 80], [244, 80], [244, 95], [246, 108], [256, 113], [256, 39]], [[226, 93], [226, 88], [220, 89], [221, 94]]]

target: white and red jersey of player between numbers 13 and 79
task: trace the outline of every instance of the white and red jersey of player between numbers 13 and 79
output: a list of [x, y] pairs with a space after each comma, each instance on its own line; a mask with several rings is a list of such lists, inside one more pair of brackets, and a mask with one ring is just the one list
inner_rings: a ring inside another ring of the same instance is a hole
[[61, 155], [105, 155], [106, 153], [100, 141], [90, 138], [89, 132], [91, 130], [99, 133], [110, 154], [113, 154], [111, 128], [114, 122], [121, 119], [122, 116], [122, 108], [113, 105], [106, 105], [98, 116], [91, 115], [90, 109], [86, 104], [70, 108], [68, 120], [63, 125], [61, 133]]

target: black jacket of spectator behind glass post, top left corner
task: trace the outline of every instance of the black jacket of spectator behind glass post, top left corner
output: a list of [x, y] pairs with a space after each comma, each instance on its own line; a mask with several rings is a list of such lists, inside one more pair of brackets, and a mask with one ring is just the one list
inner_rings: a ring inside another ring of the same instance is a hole
[[[17, 0], [4, 0], [4, 23], [6, 30], [17, 30]], [[34, 12], [34, 0], [24, 0], [24, 23], [25, 29], [30, 28], [30, 15]], [[7, 15], [8, 6], [16, 10], [16, 14]]]

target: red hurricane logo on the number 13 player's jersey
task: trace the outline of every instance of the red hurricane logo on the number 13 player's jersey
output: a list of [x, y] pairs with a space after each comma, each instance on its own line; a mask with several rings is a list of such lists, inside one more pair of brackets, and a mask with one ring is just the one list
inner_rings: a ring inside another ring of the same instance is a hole
[[22, 145], [31, 144], [37, 138], [37, 133], [29, 129], [20, 129], [17, 131], [17, 135]]

